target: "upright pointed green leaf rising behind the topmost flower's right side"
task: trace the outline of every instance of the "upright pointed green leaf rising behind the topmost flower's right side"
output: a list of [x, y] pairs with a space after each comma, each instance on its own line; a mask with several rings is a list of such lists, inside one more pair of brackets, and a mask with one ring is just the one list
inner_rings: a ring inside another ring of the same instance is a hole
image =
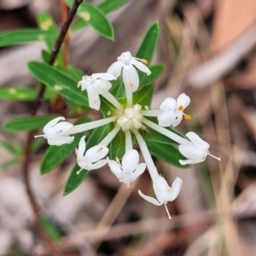
[[160, 27], [159, 22], [154, 21], [154, 23], [148, 28], [148, 32], [143, 38], [143, 43], [137, 50], [137, 58], [145, 59], [148, 64], [152, 61], [154, 50], [159, 39]]

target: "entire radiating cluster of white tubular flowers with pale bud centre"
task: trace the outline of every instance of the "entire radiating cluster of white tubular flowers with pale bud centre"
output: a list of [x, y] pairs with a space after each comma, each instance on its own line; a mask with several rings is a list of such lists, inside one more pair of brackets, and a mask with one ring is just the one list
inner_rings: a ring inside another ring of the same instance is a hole
[[[113, 123], [113, 130], [108, 133], [102, 142], [88, 150], [86, 150], [85, 136], [81, 137], [79, 148], [76, 150], [78, 164], [81, 168], [79, 172], [82, 170], [94, 170], [108, 163], [110, 171], [113, 172], [120, 182], [125, 183], [129, 187], [130, 183], [135, 181], [147, 167], [153, 181], [154, 194], [157, 200], [144, 195], [140, 190], [138, 193], [146, 201], [156, 206], [164, 204], [166, 207], [168, 201], [176, 199], [183, 182], [181, 178], [177, 177], [170, 187], [166, 179], [160, 176], [140, 131], [147, 131], [147, 127], [149, 127], [178, 143], [180, 153], [187, 158], [187, 160], [179, 160], [181, 165], [200, 163], [206, 159], [207, 155], [212, 156], [212, 154], [208, 151], [209, 144], [198, 137], [195, 132], [188, 132], [186, 134], [187, 138], [184, 138], [164, 128], [171, 125], [173, 127], [177, 126], [182, 121], [183, 116], [184, 119], [190, 119], [188, 114], [183, 113], [183, 110], [189, 105], [189, 96], [183, 93], [177, 97], [177, 100], [168, 97], [160, 104], [160, 109], [158, 110], [143, 110], [141, 105], [132, 104], [132, 95], [139, 87], [137, 69], [149, 75], [151, 72], [146, 66], [147, 64], [148, 61], [132, 57], [131, 53], [127, 51], [118, 57], [118, 61], [108, 68], [107, 73], [94, 73], [91, 76], [84, 76], [79, 81], [78, 87], [81, 87], [81, 90], [87, 90], [90, 108], [99, 110], [101, 107], [100, 96], [102, 96], [112, 103], [116, 111], [108, 118], [82, 125], [72, 125], [65, 121], [63, 117], [56, 118], [44, 126], [44, 135], [37, 137], [46, 138], [49, 145], [61, 146], [73, 142], [74, 137], [70, 137], [71, 134]], [[109, 92], [109, 89], [112, 87], [109, 81], [117, 79], [121, 73], [125, 84], [125, 104], [121, 104]], [[158, 124], [147, 119], [147, 117], [157, 117]], [[121, 162], [118, 158], [116, 160], [109, 160], [107, 157], [108, 145], [119, 131], [125, 133], [125, 155]], [[136, 149], [133, 149], [131, 134], [137, 139], [145, 163], [139, 163], [139, 154]], [[171, 218], [167, 207], [166, 212], [168, 217]]]

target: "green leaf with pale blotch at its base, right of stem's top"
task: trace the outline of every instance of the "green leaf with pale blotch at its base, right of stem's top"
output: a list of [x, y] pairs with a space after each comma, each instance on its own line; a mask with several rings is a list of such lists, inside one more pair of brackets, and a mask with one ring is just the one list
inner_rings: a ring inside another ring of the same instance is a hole
[[88, 25], [92, 26], [96, 32], [101, 34], [102, 37], [113, 40], [113, 26], [100, 9], [90, 3], [82, 3], [78, 9], [78, 15], [87, 22]]

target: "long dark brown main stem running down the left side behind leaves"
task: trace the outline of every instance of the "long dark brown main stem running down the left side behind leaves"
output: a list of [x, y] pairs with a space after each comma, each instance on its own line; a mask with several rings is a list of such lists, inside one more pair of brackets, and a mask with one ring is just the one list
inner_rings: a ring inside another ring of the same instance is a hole
[[[59, 37], [56, 40], [55, 46], [52, 49], [52, 53], [49, 57], [49, 65], [53, 65], [56, 57], [61, 49], [61, 44], [63, 43], [66, 35], [67, 35], [67, 30], [69, 28], [69, 26], [71, 25], [71, 22], [73, 20], [74, 15], [76, 14], [79, 5], [83, 3], [83, 0], [74, 0], [73, 2], [73, 6], [72, 8], [69, 10], [68, 14], [67, 14], [67, 20], [63, 23], [63, 25], [61, 26], [61, 32], [59, 34]], [[38, 96], [37, 99], [34, 102], [34, 108], [32, 109], [32, 116], [35, 116], [36, 113], [38, 112], [38, 108], [41, 105], [41, 102], [43, 100], [43, 96], [44, 96], [44, 90], [45, 90], [45, 86], [44, 84], [40, 85], [40, 89], [38, 91]], [[21, 172], [22, 175], [24, 177], [24, 182], [25, 182], [25, 186], [26, 186], [26, 194], [27, 197], [30, 201], [31, 207], [32, 207], [32, 211], [34, 212], [37, 220], [39, 219], [39, 213], [40, 213], [40, 207], [38, 205], [38, 202], [35, 198], [35, 196], [32, 193], [32, 186], [30, 183], [30, 179], [29, 179], [29, 164], [30, 164], [30, 160], [32, 157], [32, 152], [31, 152], [31, 146], [32, 146], [32, 140], [34, 137], [34, 132], [35, 131], [30, 131], [27, 135], [26, 138], [26, 146], [25, 146], [25, 157], [23, 160], [23, 164], [21, 167]], [[58, 253], [57, 248], [55, 247], [54, 243], [50, 240], [49, 236], [47, 236], [44, 232], [44, 229], [42, 228], [42, 226], [37, 223], [36, 225], [38, 227], [38, 233], [44, 238], [44, 241], [46, 242], [46, 244], [49, 247], [49, 250], [51, 251], [51, 255], [61, 255], [60, 253]]]

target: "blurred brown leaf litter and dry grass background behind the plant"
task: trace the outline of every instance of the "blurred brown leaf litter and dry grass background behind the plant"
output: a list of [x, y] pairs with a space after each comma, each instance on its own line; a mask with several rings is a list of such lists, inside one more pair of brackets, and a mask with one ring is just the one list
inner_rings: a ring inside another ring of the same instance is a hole
[[[42, 11], [61, 24], [59, 0], [1, 0], [0, 32], [37, 26]], [[256, 1], [131, 1], [108, 18], [115, 42], [86, 27], [71, 36], [70, 62], [84, 73], [105, 72], [122, 52], [134, 54], [148, 26], [159, 20], [153, 63], [166, 70], [155, 84], [153, 106], [166, 96], [189, 95], [192, 119], [177, 130], [197, 132], [221, 161], [207, 157], [177, 169], [154, 159], [169, 183], [183, 179], [181, 194], [168, 203], [169, 220], [164, 207], [137, 194], [154, 193], [147, 172], [130, 190], [102, 168], [63, 197], [75, 154], [41, 176], [44, 146], [32, 157], [30, 180], [48, 217], [41, 223], [53, 235], [38, 231], [20, 164], [9, 166], [0, 172], [0, 255], [256, 255]], [[34, 86], [26, 62], [39, 61], [41, 49], [42, 43], [0, 49], [0, 86]], [[32, 102], [1, 101], [0, 123], [31, 109]], [[46, 111], [43, 106], [39, 113]], [[26, 134], [0, 131], [0, 139], [24, 145]], [[9, 159], [0, 148], [0, 161]]]

